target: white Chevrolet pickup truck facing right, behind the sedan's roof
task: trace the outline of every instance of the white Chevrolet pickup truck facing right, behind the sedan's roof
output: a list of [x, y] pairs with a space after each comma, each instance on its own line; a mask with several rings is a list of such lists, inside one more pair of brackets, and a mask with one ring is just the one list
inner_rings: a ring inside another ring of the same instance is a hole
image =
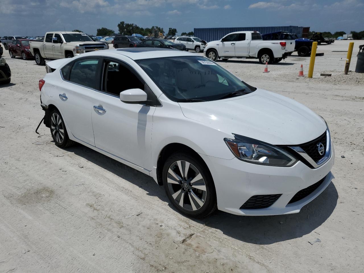
[[70, 31], [47, 32], [44, 41], [30, 41], [29, 46], [39, 66], [46, 63], [45, 59], [72, 58], [82, 53], [107, 48], [104, 43], [94, 42], [84, 33]]

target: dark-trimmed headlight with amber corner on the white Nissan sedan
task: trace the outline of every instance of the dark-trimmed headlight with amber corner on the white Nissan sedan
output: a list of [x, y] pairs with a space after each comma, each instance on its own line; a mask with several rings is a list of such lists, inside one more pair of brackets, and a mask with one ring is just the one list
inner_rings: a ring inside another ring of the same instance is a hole
[[296, 158], [280, 147], [241, 135], [233, 135], [235, 139], [225, 138], [224, 141], [230, 151], [242, 161], [279, 167], [290, 167], [297, 162]]

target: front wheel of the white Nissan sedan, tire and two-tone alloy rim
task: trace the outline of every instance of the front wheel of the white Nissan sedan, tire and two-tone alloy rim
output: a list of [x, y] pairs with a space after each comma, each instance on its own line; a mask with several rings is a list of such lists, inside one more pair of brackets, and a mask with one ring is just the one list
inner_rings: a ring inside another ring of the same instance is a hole
[[203, 218], [217, 208], [214, 182], [201, 159], [177, 152], [166, 160], [162, 174], [167, 196], [182, 214]]

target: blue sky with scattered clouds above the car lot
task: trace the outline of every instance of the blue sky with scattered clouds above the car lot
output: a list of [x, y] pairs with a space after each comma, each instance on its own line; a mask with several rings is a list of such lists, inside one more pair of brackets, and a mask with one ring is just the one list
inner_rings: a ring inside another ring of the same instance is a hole
[[0, 36], [80, 29], [118, 31], [120, 21], [178, 33], [207, 27], [298, 25], [313, 31], [364, 30], [364, 0], [1, 0]]

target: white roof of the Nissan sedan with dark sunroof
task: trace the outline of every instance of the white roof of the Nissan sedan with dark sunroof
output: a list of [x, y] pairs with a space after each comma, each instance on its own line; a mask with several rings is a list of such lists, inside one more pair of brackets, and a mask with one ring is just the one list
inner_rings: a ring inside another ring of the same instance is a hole
[[166, 58], [166, 57], [181, 57], [181, 56], [200, 56], [192, 52], [167, 49], [167, 48], [150, 48], [150, 47], [134, 47], [122, 48], [113, 50], [97, 50], [89, 53], [84, 53], [81, 56], [108, 56], [118, 58], [124, 55], [132, 60], [153, 59], [153, 58]]

